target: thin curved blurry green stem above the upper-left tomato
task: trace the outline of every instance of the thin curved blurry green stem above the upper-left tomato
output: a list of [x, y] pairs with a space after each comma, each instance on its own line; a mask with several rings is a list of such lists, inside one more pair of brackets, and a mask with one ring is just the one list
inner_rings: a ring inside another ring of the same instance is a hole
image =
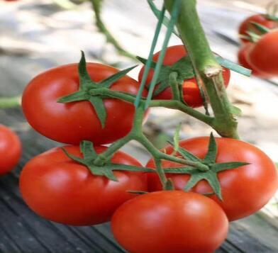
[[113, 35], [110, 33], [110, 31], [104, 25], [104, 22], [101, 19], [101, 4], [102, 4], [103, 0], [89, 0], [89, 1], [91, 1], [91, 4], [94, 9], [95, 18], [96, 18], [96, 26], [99, 29], [99, 31], [105, 35], [106, 40], [116, 48], [116, 50], [118, 51], [118, 53], [120, 55], [129, 57], [129, 58], [135, 60], [135, 56], [130, 54], [130, 52], [127, 52], [126, 50], [124, 50], [123, 47], [120, 45], [120, 43], [118, 43], [118, 41], [113, 37]]

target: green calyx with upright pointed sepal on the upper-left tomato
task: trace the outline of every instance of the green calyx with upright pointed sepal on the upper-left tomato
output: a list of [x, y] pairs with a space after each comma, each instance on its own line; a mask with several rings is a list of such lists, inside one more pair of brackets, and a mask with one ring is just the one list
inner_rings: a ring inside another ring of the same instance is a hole
[[102, 81], [95, 82], [91, 80], [86, 68], [86, 60], [84, 56], [84, 52], [82, 51], [82, 57], [78, 64], [78, 72], [79, 72], [79, 90], [69, 94], [67, 96], [63, 96], [58, 99], [58, 103], [71, 103], [76, 101], [89, 101], [91, 105], [94, 107], [96, 114], [101, 123], [101, 127], [105, 127], [106, 121], [106, 108], [104, 106], [104, 98], [99, 95], [92, 95], [90, 91], [98, 91], [100, 89], [106, 88], [109, 89], [113, 83], [118, 81], [124, 77], [131, 69], [134, 67], [130, 67], [128, 69], [124, 69], [116, 74], [113, 74], [111, 77], [108, 77]]

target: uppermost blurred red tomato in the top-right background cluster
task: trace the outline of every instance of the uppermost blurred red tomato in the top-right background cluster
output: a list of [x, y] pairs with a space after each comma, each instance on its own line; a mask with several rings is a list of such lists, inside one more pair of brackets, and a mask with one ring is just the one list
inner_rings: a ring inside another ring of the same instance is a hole
[[[259, 23], [262, 26], [265, 26], [266, 28], [272, 29], [277, 26], [276, 21], [272, 21], [270, 19], [267, 19], [267, 15], [264, 14], [255, 14], [253, 16], [250, 16], [249, 18], [246, 18], [245, 21], [243, 21], [240, 24], [240, 27], [238, 28], [238, 33], [240, 35], [247, 35], [248, 36], [248, 29], [251, 28], [252, 31], [258, 32], [256, 28], [254, 28], [251, 24], [251, 22]], [[240, 38], [240, 40], [243, 43], [248, 43], [248, 40]]]

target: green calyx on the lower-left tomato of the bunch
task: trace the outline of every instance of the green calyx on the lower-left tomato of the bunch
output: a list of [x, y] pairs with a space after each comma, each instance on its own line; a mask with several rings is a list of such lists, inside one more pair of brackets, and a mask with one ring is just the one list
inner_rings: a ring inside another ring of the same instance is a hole
[[63, 147], [62, 150], [63, 152], [65, 152], [67, 157], [70, 157], [70, 159], [74, 160], [75, 162], [86, 166], [91, 174], [93, 174], [94, 176], [106, 176], [107, 179], [112, 181], [118, 181], [116, 176], [113, 174], [113, 171], [115, 170], [127, 172], [153, 172], [152, 169], [147, 169], [145, 167], [135, 167], [126, 164], [115, 164], [111, 162], [110, 159], [108, 159], [108, 161], [106, 159], [106, 162], [104, 162], [104, 164], [101, 164], [100, 166], [96, 165], [94, 164], [94, 161], [97, 157], [99, 157], [99, 154], [97, 154], [96, 150], [94, 150], [93, 143], [87, 140], [80, 142], [80, 151], [83, 154], [83, 158], [70, 154]]

